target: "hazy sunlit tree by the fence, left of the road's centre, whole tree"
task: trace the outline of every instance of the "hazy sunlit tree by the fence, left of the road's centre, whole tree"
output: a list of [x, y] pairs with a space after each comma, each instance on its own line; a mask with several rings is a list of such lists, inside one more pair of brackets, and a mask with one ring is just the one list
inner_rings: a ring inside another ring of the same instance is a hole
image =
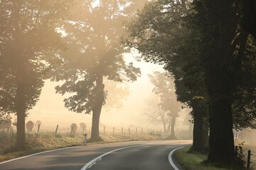
[[112, 81], [135, 81], [140, 70], [124, 62], [128, 52], [120, 42], [125, 33], [123, 22], [137, 1], [82, 1], [78, 0], [73, 18], [63, 26], [68, 52], [63, 54], [63, 65], [55, 70], [53, 80], [63, 81], [55, 89], [65, 98], [65, 107], [76, 113], [92, 112], [92, 141], [101, 140], [99, 121], [107, 94], [104, 77]]

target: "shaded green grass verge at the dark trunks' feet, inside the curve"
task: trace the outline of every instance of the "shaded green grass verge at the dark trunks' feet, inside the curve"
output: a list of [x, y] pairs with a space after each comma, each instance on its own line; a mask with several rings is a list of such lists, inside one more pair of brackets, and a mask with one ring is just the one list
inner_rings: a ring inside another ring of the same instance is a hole
[[206, 154], [190, 153], [188, 150], [191, 146], [183, 147], [182, 149], [174, 152], [174, 159], [178, 164], [186, 170], [230, 170], [225, 168], [216, 167], [211, 164], [203, 164], [202, 162], [207, 159]]

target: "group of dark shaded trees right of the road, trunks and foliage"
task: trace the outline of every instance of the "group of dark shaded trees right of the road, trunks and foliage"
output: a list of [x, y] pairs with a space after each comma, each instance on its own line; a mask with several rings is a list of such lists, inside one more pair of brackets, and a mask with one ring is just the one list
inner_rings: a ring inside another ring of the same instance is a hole
[[210, 163], [240, 164], [233, 128], [256, 125], [255, 16], [255, 1], [156, 0], [129, 25], [127, 45], [164, 64], [193, 108], [191, 150], [208, 145]]

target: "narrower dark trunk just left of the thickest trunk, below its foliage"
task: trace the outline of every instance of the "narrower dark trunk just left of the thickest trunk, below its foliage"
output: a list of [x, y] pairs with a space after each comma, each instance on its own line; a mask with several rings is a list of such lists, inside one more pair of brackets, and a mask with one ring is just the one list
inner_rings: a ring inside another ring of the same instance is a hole
[[204, 118], [206, 116], [206, 108], [202, 103], [194, 101], [193, 107], [193, 145], [191, 151], [203, 152], [206, 150], [206, 142], [208, 142], [208, 130]]

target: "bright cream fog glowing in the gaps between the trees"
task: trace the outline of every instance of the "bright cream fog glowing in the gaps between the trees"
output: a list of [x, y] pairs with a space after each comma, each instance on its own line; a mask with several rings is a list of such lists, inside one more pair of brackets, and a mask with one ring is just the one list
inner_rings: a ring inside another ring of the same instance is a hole
[[[132, 55], [127, 55], [126, 60], [134, 62], [134, 66], [141, 69], [142, 75], [134, 83], [124, 82], [125, 86], [129, 89], [129, 94], [122, 100], [122, 106], [118, 108], [107, 107], [108, 103], [103, 106], [100, 115], [100, 126], [104, 125], [111, 128], [139, 127], [160, 131], [162, 130], [161, 125], [151, 123], [146, 115], [144, 115], [144, 109], [146, 108], [146, 98], [149, 98], [152, 94], [154, 87], [149, 81], [148, 74], [156, 71], [164, 72], [164, 69], [160, 65], [137, 62], [132, 58]], [[59, 125], [60, 130], [68, 130], [71, 123], [79, 125], [83, 122], [87, 124], [87, 132], [89, 132], [92, 114], [68, 111], [63, 102], [65, 96], [55, 94], [54, 87], [58, 84], [60, 83], [50, 80], [45, 81], [40, 99], [36, 106], [31, 111], [28, 111], [29, 114], [26, 122], [32, 120], [36, 123], [36, 120], [41, 120], [41, 130], [48, 131], [54, 131], [56, 125]], [[107, 96], [107, 102], [110, 100], [108, 97], [110, 96]], [[183, 123], [183, 118], [186, 114], [188, 114], [188, 111], [181, 111], [180, 116], [177, 118], [176, 130], [188, 128], [188, 125]]]

